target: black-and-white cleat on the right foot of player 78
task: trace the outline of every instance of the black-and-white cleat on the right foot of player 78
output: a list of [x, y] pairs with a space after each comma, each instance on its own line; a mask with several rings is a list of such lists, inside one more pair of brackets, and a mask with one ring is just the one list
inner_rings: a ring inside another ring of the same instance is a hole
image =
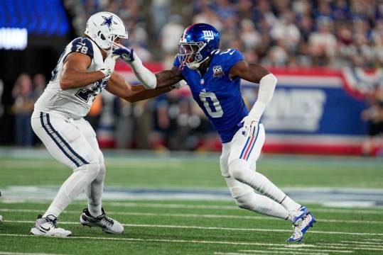
[[80, 222], [83, 226], [88, 227], [101, 227], [102, 231], [109, 234], [122, 234], [124, 232], [124, 226], [117, 220], [113, 220], [111, 217], [107, 217], [104, 208], [101, 208], [102, 215], [93, 217], [90, 212], [85, 208], [82, 210], [80, 216]]

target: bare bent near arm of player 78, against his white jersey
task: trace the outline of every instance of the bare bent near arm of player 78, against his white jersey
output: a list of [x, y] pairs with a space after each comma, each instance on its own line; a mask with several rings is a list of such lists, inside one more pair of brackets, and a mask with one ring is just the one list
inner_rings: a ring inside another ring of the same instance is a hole
[[[78, 52], [70, 53], [64, 61], [63, 72], [60, 77], [61, 89], [75, 89], [87, 86], [112, 73], [110, 70], [87, 72], [87, 68], [90, 66], [91, 61], [92, 60], [88, 55]], [[107, 62], [107, 60], [105, 62]]]

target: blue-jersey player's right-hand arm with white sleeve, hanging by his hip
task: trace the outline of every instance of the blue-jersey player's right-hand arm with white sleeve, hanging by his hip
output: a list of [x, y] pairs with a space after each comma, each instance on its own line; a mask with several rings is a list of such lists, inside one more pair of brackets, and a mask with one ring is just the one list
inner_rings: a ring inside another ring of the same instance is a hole
[[242, 60], [230, 69], [230, 78], [240, 77], [259, 84], [257, 102], [244, 119], [244, 130], [248, 135], [256, 135], [259, 119], [273, 97], [276, 77], [259, 64], [249, 64]]

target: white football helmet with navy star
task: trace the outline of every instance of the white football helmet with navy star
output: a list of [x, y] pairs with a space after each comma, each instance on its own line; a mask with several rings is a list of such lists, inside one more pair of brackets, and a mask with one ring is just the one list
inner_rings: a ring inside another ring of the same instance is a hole
[[96, 44], [109, 52], [117, 38], [128, 39], [128, 31], [119, 16], [108, 11], [93, 14], [87, 21], [85, 35], [88, 35]]

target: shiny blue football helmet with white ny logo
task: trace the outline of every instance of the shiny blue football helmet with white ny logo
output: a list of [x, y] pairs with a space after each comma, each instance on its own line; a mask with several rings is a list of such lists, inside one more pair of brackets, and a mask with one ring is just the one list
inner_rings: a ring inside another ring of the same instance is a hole
[[209, 59], [213, 51], [220, 47], [220, 33], [215, 27], [196, 23], [185, 29], [178, 42], [178, 60], [180, 67], [198, 69]]

